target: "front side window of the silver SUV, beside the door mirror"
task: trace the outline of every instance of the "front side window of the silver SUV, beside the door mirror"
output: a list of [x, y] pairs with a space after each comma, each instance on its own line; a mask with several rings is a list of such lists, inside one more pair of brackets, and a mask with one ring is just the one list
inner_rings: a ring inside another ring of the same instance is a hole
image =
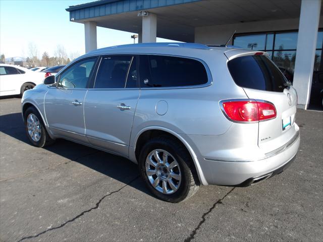
[[87, 81], [96, 62], [96, 58], [84, 59], [75, 63], [60, 76], [58, 87], [86, 88]]

